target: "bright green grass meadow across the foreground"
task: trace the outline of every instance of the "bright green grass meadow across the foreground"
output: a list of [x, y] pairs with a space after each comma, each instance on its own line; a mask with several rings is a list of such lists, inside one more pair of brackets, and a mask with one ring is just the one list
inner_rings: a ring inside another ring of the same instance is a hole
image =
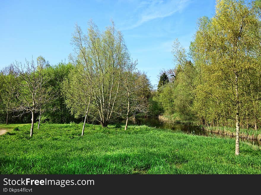
[[260, 147], [147, 126], [30, 125], [0, 136], [1, 174], [261, 174]]

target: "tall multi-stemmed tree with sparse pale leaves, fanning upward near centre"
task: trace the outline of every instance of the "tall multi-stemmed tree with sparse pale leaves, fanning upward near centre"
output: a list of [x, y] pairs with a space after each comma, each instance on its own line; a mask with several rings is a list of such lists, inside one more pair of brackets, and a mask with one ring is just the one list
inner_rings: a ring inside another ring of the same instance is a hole
[[107, 127], [117, 106], [122, 67], [126, 66], [124, 62], [128, 57], [122, 34], [116, 30], [113, 22], [101, 33], [90, 21], [87, 35], [76, 25], [72, 45], [75, 47], [72, 61], [84, 66], [82, 75], [85, 76], [85, 83], [92, 81], [91, 105], [98, 113], [90, 113], [90, 116]]

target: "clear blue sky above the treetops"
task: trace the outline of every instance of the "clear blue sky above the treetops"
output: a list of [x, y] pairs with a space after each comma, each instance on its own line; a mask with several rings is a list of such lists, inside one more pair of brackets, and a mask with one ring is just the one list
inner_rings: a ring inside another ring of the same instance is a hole
[[86, 30], [92, 19], [104, 30], [112, 19], [137, 68], [157, 85], [160, 70], [175, 66], [173, 41], [178, 38], [188, 49], [198, 18], [212, 17], [215, 5], [215, 0], [0, 0], [0, 69], [39, 55], [52, 65], [68, 62], [76, 23]]

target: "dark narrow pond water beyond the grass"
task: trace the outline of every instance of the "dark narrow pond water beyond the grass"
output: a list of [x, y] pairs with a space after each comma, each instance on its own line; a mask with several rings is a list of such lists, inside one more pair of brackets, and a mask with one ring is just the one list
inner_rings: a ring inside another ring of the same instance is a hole
[[[122, 121], [124, 122], [124, 121]], [[128, 124], [135, 125], [147, 125], [149, 127], [155, 127], [158, 129], [171, 129], [172, 131], [182, 131], [186, 134], [208, 136], [208, 137], [230, 137], [228, 135], [221, 135], [206, 131], [199, 125], [189, 124], [189, 123], [174, 123], [169, 121], [161, 121], [158, 118], [136, 118], [135, 122], [130, 120]], [[233, 137], [234, 138], [234, 137]], [[248, 140], [241, 139], [241, 141], [249, 142], [254, 145], [261, 145], [261, 142], [258, 140]]]

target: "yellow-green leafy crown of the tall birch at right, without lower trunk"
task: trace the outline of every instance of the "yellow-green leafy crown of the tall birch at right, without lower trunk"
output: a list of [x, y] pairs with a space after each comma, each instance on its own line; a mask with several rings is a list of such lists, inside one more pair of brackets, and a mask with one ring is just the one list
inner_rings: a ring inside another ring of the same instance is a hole
[[241, 127], [260, 118], [259, 30], [244, 1], [219, 1], [213, 18], [199, 20], [191, 50], [200, 70], [193, 110], [202, 123], [234, 126], [238, 108]]

